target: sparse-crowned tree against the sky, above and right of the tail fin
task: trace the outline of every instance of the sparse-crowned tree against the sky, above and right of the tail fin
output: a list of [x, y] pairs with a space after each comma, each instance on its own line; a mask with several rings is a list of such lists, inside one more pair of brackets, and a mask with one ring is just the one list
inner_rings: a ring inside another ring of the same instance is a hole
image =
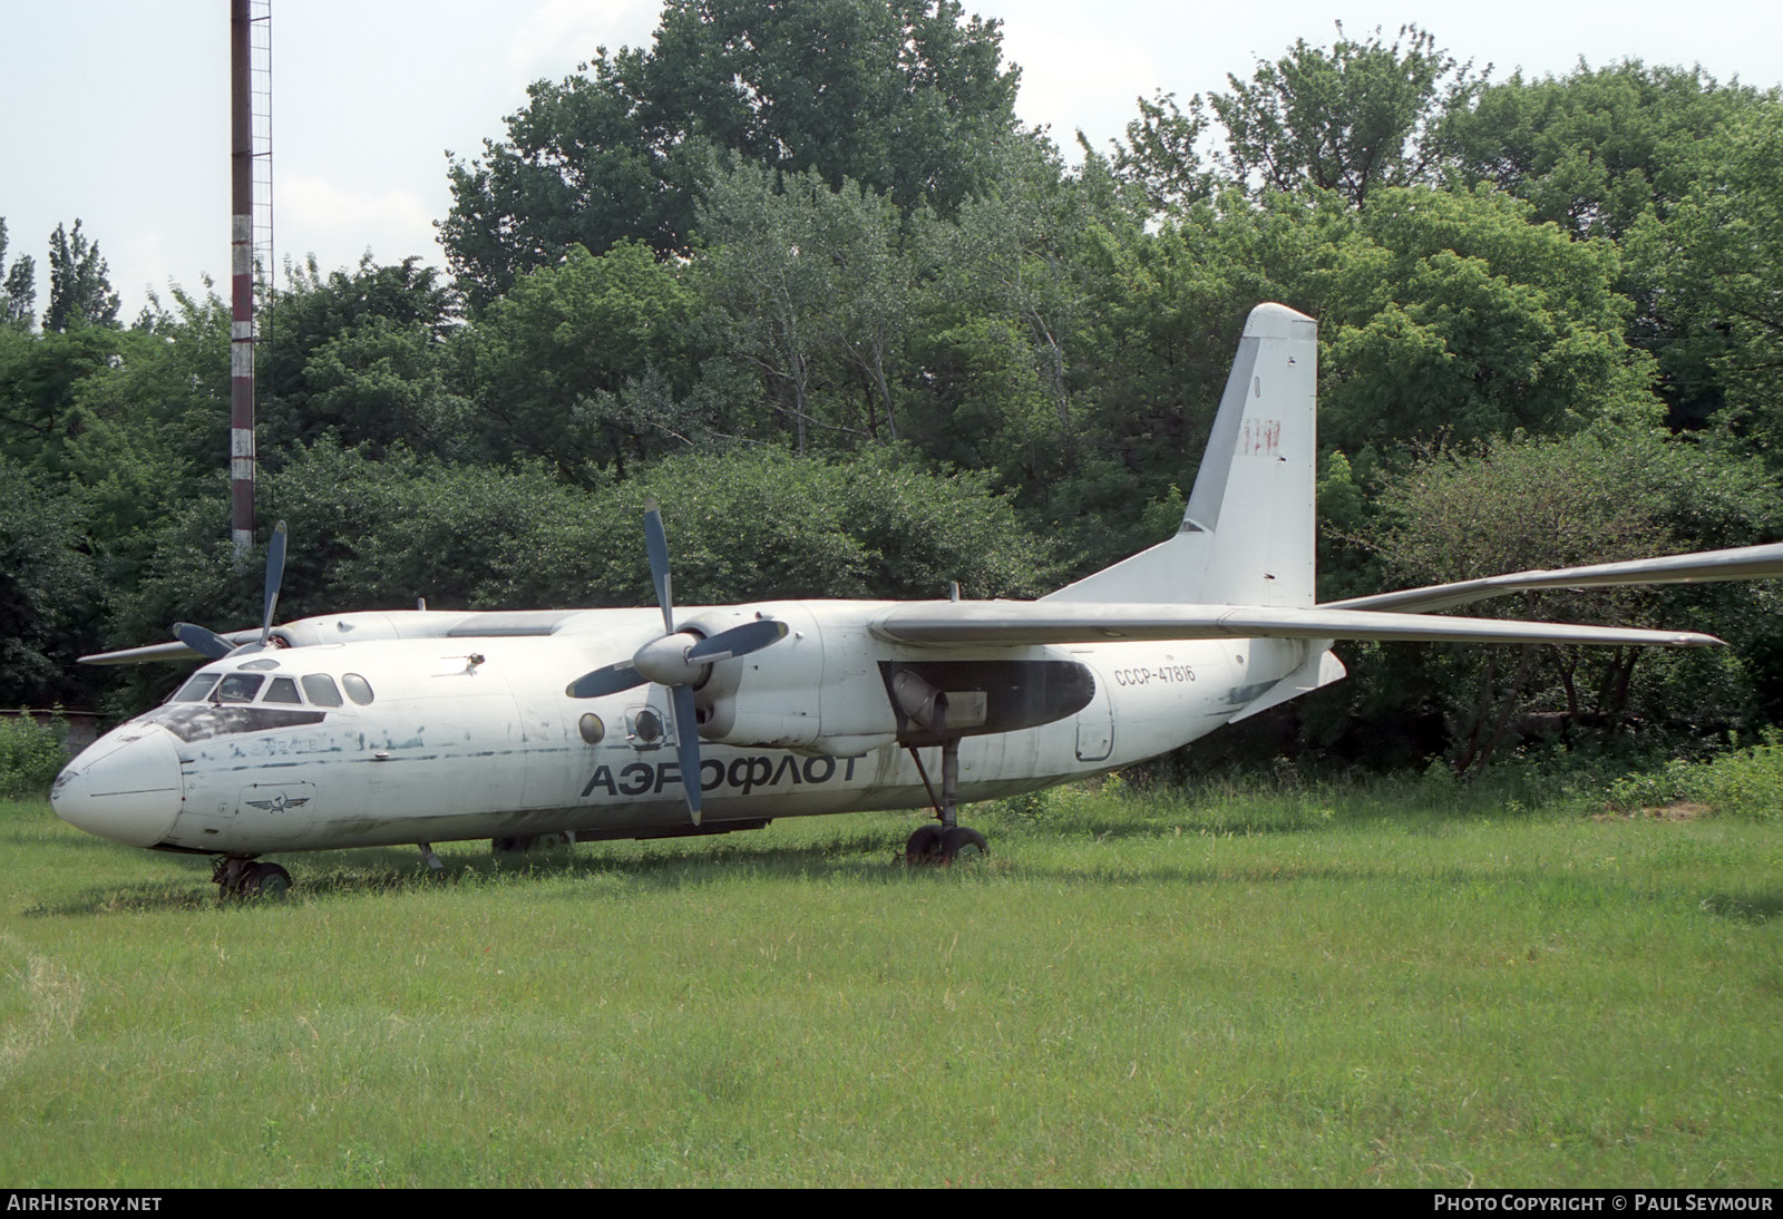
[[1442, 116], [1464, 107], [1483, 78], [1457, 64], [1435, 37], [1400, 27], [1362, 41], [1337, 25], [1332, 46], [1303, 39], [1282, 59], [1259, 61], [1248, 82], [1209, 98], [1227, 128], [1225, 169], [1275, 191], [1318, 187], [1364, 207], [1380, 187], [1426, 182], [1442, 150]]

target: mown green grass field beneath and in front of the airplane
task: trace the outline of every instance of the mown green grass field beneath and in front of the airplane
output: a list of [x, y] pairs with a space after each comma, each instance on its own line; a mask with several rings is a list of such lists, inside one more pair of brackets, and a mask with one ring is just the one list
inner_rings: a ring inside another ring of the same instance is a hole
[[1776, 1185], [1783, 823], [1417, 786], [497, 863], [0, 804], [0, 1182]]

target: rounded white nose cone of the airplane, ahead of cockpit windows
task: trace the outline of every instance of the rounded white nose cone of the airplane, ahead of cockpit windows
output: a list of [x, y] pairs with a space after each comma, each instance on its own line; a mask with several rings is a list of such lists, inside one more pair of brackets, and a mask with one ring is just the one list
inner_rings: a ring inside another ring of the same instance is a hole
[[77, 829], [130, 847], [153, 847], [180, 814], [180, 754], [159, 724], [125, 724], [68, 763], [50, 804]]

